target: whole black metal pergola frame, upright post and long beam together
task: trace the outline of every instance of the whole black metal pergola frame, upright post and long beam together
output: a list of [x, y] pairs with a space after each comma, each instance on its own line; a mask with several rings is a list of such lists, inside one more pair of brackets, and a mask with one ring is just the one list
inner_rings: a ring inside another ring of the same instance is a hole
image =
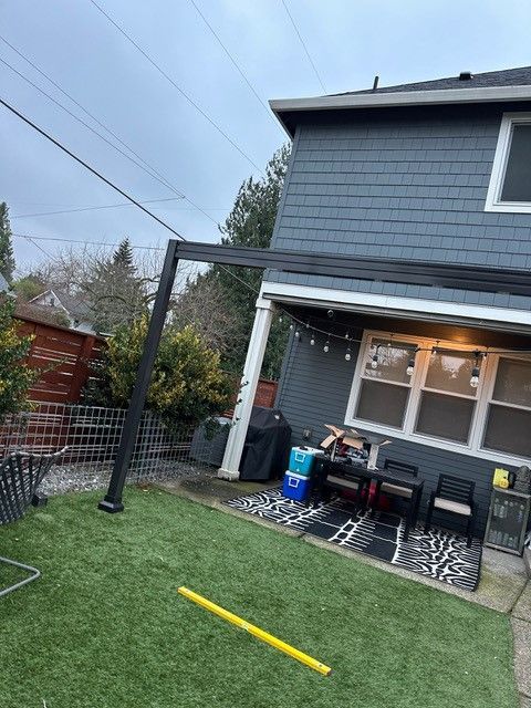
[[433, 285], [531, 296], [531, 273], [522, 270], [384, 258], [369, 259], [357, 256], [334, 256], [170, 240], [149, 320], [135, 387], [113, 466], [111, 482], [105, 498], [98, 504], [100, 509], [110, 513], [123, 511], [124, 509], [122, 501], [123, 489], [133, 457], [140, 416], [179, 260], [271, 269], [284, 273], [330, 275], [353, 280]]

